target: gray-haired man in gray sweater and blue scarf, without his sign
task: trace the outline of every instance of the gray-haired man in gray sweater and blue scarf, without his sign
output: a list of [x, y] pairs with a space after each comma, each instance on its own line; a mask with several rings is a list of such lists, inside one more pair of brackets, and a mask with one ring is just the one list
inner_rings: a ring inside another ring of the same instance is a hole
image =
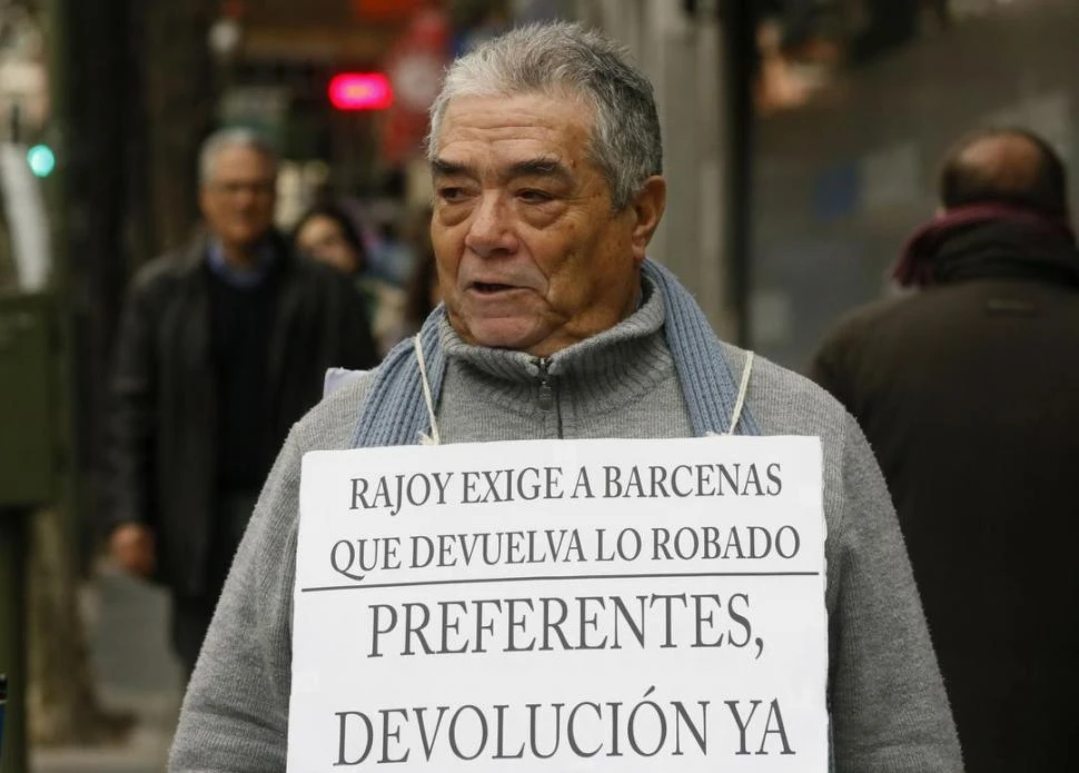
[[294, 429], [188, 691], [171, 770], [285, 767], [305, 452], [423, 435], [690, 437], [732, 423], [823, 438], [838, 769], [960, 770], [894, 514], [858, 426], [766, 363], [752, 369], [739, 414], [752, 360], [716, 340], [691, 296], [645, 259], [665, 199], [645, 78], [578, 27], [509, 32], [453, 66], [428, 152], [445, 304], [415, 341]]

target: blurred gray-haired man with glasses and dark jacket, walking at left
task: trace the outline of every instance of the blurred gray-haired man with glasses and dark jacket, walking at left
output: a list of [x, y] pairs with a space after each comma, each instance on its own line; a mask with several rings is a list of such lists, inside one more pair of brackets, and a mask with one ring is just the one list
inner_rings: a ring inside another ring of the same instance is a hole
[[273, 228], [277, 161], [254, 132], [199, 160], [205, 230], [142, 267], [111, 383], [108, 513], [117, 563], [171, 591], [188, 674], [274, 453], [330, 366], [375, 364], [363, 304]]

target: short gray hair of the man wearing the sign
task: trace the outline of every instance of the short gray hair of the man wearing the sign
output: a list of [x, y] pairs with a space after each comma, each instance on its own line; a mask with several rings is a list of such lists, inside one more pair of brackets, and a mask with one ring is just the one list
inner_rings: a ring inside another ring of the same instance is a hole
[[463, 96], [572, 96], [593, 111], [588, 155], [624, 209], [644, 181], [663, 172], [663, 143], [652, 85], [628, 52], [581, 24], [529, 24], [481, 43], [455, 61], [430, 107], [427, 157], [449, 101]]

